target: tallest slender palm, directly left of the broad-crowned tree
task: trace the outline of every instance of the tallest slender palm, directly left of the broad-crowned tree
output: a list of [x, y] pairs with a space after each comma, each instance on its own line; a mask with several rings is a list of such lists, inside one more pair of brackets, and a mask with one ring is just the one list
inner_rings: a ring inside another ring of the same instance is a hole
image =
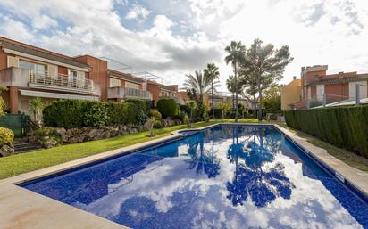
[[243, 59], [244, 53], [246, 53], [246, 47], [241, 45], [241, 42], [231, 41], [229, 46], [225, 48], [227, 55], [225, 57], [226, 64], [231, 63], [234, 68], [234, 80], [235, 80], [235, 122], [238, 122], [238, 63]]

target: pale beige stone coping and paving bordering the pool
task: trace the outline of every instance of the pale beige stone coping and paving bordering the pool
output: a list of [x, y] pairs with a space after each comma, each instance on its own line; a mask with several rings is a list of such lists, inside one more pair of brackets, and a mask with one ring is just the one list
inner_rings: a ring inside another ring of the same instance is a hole
[[[21, 175], [18, 175], [18, 176], [13, 176], [13, 177], [9, 177], [9, 178], [5, 178], [3, 180], [0, 180], [0, 206], [2, 206], [0, 208], [0, 212], [2, 212], [2, 210], [4, 211], [4, 208], [6, 208], [6, 205], [4, 207], [1, 204], [1, 202], [4, 201], [4, 198], [2, 199], [1, 197], [5, 195], [2, 191], [4, 189], [6, 190], [6, 188], [8, 188], [8, 189], [13, 189], [14, 191], [18, 191], [18, 192], [22, 193], [19, 199], [18, 198], [14, 199], [14, 197], [13, 197], [13, 200], [15, 200], [15, 201], [27, 200], [29, 198], [30, 199], [34, 198], [35, 200], [47, 199], [46, 206], [41, 206], [41, 207], [44, 208], [44, 209], [50, 209], [50, 208], [53, 208], [54, 204], [58, 205], [58, 208], [63, 209], [63, 212], [60, 212], [59, 215], [65, 214], [65, 212], [64, 212], [65, 210], [70, 211], [70, 212], [71, 211], [74, 211], [74, 212], [77, 211], [78, 213], [75, 213], [75, 214], [80, 215], [81, 217], [92, 218], [92, 221], [93, 221], [93, 218], [95, 217], [95, 220], [98, 221], [98, 222], [101, 222], [101, 224], [105, 224], [106, 228], [127, 228], [124, 225], [118, 225], [118, 224], [114, 223], [113, 221], [107, 220], [103, 217], [98, 217], [96, 215], [88, 213], [87, 211], [74, 208], [74, 207], [72, 207], [70, 205], [67, 205], [67, 204], [64, 204], [64, 203], [62, 203], [58, 200], [52, 200], [52, 199], [50, 199], [46, 196], [40, 195], [36, 192], [30, 192], [30, 191], [22, 188], [21, 186], [18, 186], [17, 184], [21, 184], [21, 183], [24, 183], [24, 182], [28, 182], [30, 180], [38, 179], [38, 178], [43, 177], [43, 176], [49, 176], [49, 175], [52, 175], [52, 174], [55, 174], [55, 173], [58, 173], [58, 172], [63, 172], [65, 170], [68, 170], [68, 169], [71, 169], [71, 168], [78, 168], [79, 166], [87, 165], [89, 163], [93, 163], [93, 162], [96, 162], [98, 160], [110, 159], [110, 158], [114, 158], [114, 157], [118, 157], [118, 156], [123, 156], [124, 154], [126, 154], [130, 151], [136, 151], [138, 149], [146, 148], [146, 147], [149, 147], [151, 145], [155, 145], [157, 143], [163, 143], [165, 141], [169, 141], [169, 140], [179, 138], [180, 136], [183, 136], [181, 134], [181, 132], [184, 132], [186, 130], [187, 131], [201, 131], [201, 130], [205, 130], [205, 129], [211, 128], [211, 127], [216, 127], [216, 126], [219, 126], [219, 125], [255, 125], [255, 126], [273, 126], [273, 127], [276, 127], [282, 135], [285, 135], [285, 136], [289, 137], [289, 139], [292, 143], [295, 143], [297, 145], [297, 147], [302, 149], [302, 151], [304, 151], [308, 155], [311, 155], [314, 159], [317, 160], [317, 162], [321, 163], [322, 166], [324, 166], [324, 167], [328, 168], [330, 171], [332, 171], [332, 173], [335, 174], [335, 176], [337, 176], [338, 179], [342, 177], [344, 179], [344, 183], [345, 183], [345, 181], [347, 181], [358, 192], [362, 192], [365, 195], [365, 197], [368, 197], [368, 173], [347, 165], [345, 162], [343, 162], [343, 161], [333, 157], [332, 155], [330, 155], [326, 150], [324, 150], [320, 147], [317, 147], [312, 143], [307, 142], [307, 140], [305, 138], [297, 136], [295, 133], [291, 132], [289, 129], [284, 128], [284, 127], [280, 127], [277, 124], [222, 122], [222, 123], [216, 123], [216, 124], [213, 124], [213, 125], [209, 125], [209, 126], [206, 126], [206, 127], [186, 128], [186, 129], [181, 129], [181, 130], [175, 130], [175, 131], [171, 132], [171, 135], [166, 135], [166, 136], [163, 136], [163, 137], [160, 137], [160, 138], [157, 138], [157, 139], [153, 139], [153, 140], [149, 140], [149, 141], [146, 141], [146, 142], [143, 142], [143, 143], [136, 143], [136, 144], [133, 144], [133, 145], [130, 145], [130, 146], [121, 147], [121, 148], [113, 150], [113, 151], [105, 151], [105, 152], [97, 153], [95, 155], [88, 156], [86, 158], [71, 160], [71, 161], [64, 162], [64, 163], [59, 164], [59, 165], [54, 165], [52, 167], [41, 168], [41, 169], [31, 171], [31, 172], [28, 172], [28, 173], [25, 173], [25, 174], [21, 174]], [[319, 165], [319, 166], [321, 166], [321, 165]], [[20, 189], [20, 190], [17, 190], [17, 189]], [[5, 199], [6, 199], [6, 195], [5, 195]], [[9, 202], [7, 204], [12, 205], [12, 203], [9, 203]], [[60, 206], [62, 206], [62, 207], [60, 207]], [[6, 208], [6, 209], [9, 209], [9, 208]], [[17, 214], [16, 214], [16, 211], [14, 212], [14, 210], [15, 209], [13, 209], [12, 214], [16, 216]], [[18, 215], [23, 214], [21, 212], [21, 209], [17, 209], [17, 210], [19, 211]], [[47, 212], [44, 212], [42, 214], [46, 214], [46, 213]], [[43, 217], [41, 217], [41, 218], [44, 218], [44, 217], [45, 217], [45, 215], [43, 215]], [[38, 220], [39, 220], [39, 218], [38, 218]], [[3, 221], [3, 223], [4, 223], [3, 225], [6, 226], [4, 221]], [[9, 223], [10, 225], [12, 225], [13, 222], [6, 222], [6, 223]], [[80, 224], [80, 222], [78, 222], [78, 223]], [[72, 228], [80, 228], [81, 225], [79, 225], [79, 224], [76, 224], [76, 227], [72, 227]], [[88, 224], [88, 222], [86, 222], [86, 224]], [[2, 227], [2, 225], [0, 225], [0, 228], [13, 228], [13, 227]], [[38, 228], [38, 227], [24, 227], [24, 228]], [[63, 228], [63, 226], [61, 226], [61, 228]]]

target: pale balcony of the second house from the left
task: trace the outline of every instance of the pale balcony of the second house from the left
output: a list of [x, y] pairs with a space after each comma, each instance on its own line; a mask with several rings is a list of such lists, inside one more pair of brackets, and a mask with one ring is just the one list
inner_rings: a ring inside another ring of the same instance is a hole
[[152, 94], [145, 90], [115, 86], [108, 88], [107, 98], [152, 100]]

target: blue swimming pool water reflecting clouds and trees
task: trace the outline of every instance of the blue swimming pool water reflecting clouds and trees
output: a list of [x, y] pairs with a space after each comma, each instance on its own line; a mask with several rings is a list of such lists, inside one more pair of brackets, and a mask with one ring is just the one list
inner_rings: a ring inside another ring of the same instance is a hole
[[368, 228], [368, 205], [272, 126], [221, 125], [21, 186], [132, 228]]

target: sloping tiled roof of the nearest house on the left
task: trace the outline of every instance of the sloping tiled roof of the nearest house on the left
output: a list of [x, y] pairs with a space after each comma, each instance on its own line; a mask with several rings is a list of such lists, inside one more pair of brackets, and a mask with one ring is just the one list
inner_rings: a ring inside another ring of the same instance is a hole
[[42, 57], [48, 60], [63, 62], [65, 64], [70, 64], [79, 68], [89, 68], [87, 64], [81, 63], [79, 61], [74, 61], [73, 58], [70, 56], [54, 53], [46, 49], [38, 48], [32, 45], [23, 44], [5, 37], [0, 37], [0, 46], [7, 49], [11, 49], [13, 51]]

